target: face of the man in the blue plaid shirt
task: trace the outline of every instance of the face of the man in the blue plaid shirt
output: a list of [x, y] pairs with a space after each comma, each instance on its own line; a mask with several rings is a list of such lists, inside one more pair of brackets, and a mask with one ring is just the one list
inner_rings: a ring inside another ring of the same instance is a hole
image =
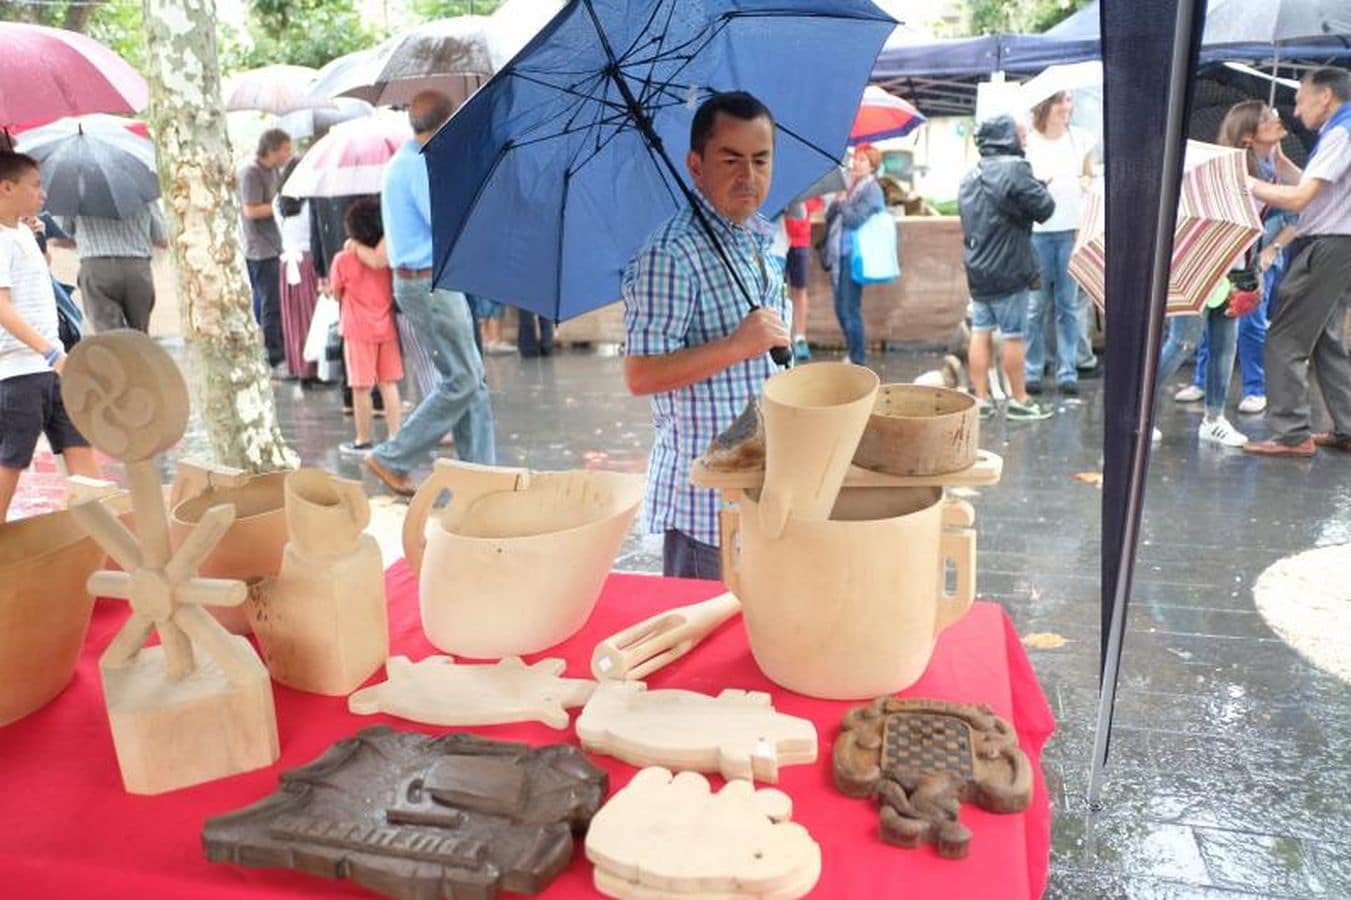
[[755, 215], [769, 195], [774, 172], [774, 126], [765, 116], [713, 116], [713, 134], [704, 153], [689, 151], [689, 174], [720, 214], [740, 224]]

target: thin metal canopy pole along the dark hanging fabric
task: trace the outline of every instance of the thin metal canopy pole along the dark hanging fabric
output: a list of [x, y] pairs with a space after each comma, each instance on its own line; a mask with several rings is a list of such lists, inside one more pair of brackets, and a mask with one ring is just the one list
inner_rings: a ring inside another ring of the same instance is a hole
[[[1154, 223], [1154, 262], [1148, 305], [1148, 330], [1144, 347], [1144, 372], [1140, 384], [1140, 409], [1135, 428], [1131, 457], [1131, 491], [1127, 499], [1125, 528], [1121, 534], [1121, 565], [1112, 586], [1112, 623], [1108, 630], [1106, 650], [1098, 692], [1097, 728], [1093, 734], [1093, 762], [1089, 772], [1089, 808], [1101, 808], [1102, 780], [1106, 768], [1108, 745], [1112, 734], [1112, 709], [1116, 705], [1116, 681], [1121, 669], [1121, 643], [1125, 636], [1125, 609], [1135, 576], [1135, 553], [1139, 542], [1140, 516], [1144, 508], [1144, 486], [1150, 462], [1150, 434], [1154, 428], [1155, 380], [1159, 369], [1159, 339], [1163, 334], [1163, 308], [1169, 296], [1169, 270], [1173, 258], [1173, 227], [1181, 185], [1174, 173], [1182, 165], [1185, 153], [1186, 95], [1192, 86], [1189, 70], [1192, 31], [1196, 27], [1193, 0], [1177, 0], [1173, 32], [1173, 61], [1169, 66], [1169, 105], [1166, 112], [1163, 165], [1159, 182], [1159, 214]], [[1111, 77], [1104, 66], [1104, 77]]]

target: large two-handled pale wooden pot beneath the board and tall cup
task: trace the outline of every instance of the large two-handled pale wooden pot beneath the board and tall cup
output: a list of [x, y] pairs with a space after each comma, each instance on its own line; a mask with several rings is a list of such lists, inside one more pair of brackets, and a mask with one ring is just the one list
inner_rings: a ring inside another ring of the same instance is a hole
[[974, 512], [942, 488], [844, 488], [828, 522], [792, 518], [778, 538], [754, 499], [738, 507], [723, 578], [740, 597], [755, 662], [789, 691], [827, 700], [902, 691], [975, 597]]

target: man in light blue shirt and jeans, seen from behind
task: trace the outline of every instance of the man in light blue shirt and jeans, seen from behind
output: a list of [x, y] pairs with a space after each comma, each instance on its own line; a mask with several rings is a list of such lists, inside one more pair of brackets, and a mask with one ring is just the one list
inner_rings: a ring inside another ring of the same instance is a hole
[[394, 301], [436, 365], [440, 381], [423, 397], [399, 435], [366, 455], [366, 468], [394, 493], [416, 491], [409, 473], [435, 450], [446, 432], [466, 462], [493, 465], [497, 458], [493, 409], [484, 378], [484, 359], [474, 346], [474, 319], [459, 291], [431, 282], [431, 188], [422, 149], [454, 112], [442, 93], [424, 91], [408, 105], [413, 139], [385, 168], [381, 218], [385, 253], [394, 280]]

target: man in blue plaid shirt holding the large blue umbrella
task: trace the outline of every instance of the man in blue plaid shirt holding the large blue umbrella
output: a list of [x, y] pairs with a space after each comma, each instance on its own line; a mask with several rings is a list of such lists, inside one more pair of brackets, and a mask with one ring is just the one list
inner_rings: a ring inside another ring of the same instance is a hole
[[[685, 166], [697, 207], [671, 216], [624, 272], [624, 380], [651, 396], [643, 524], [665, 535], [663, 574], [716, 580], [717, 492], [690, 485], [689, 468], [774, 373], [769, 351], [790, 343], [782, 276], [767, 261], [773, 232], [757, 215], [774, 166], [773, 115], [748, 93], [713, 95], [694, 114]], [[750, 315], [730, 268], [758, 300]]]

